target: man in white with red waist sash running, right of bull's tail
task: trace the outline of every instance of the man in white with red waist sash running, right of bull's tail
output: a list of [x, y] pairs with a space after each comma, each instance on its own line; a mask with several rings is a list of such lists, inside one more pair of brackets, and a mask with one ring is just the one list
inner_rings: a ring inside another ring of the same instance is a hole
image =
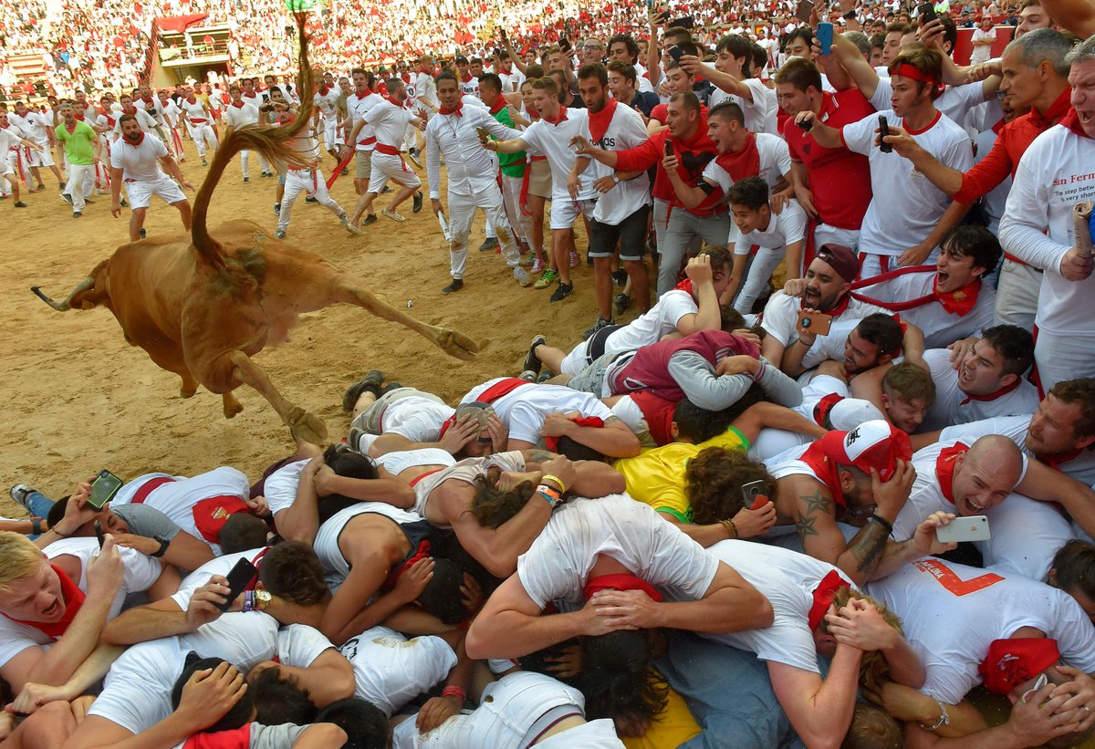
[[[367, 114], [354, 126], [350, 131], [350, 140], [355, 140], [361, 128], [371, 126], [377, 132], [377, 146], [372, 152], [371, 171], [369, 174], [369, 186], [367, 192], [361, 194], [354, 209], [350, 224], [357, 227], [361, 216], [371, 217], [376, 220], [372, 211], [372, 201], [380, 195], [380, 192], [392, 180], [400, 185], [388, 207], [380, 211], [381, 216], [393, 221], [405, 221], [400, 214], [395, 212], [400, 204], [412, 195], [414, 196], [414, 212], [422, 210], [422, 180], [412, 170], [407, 169], [403, 155], [400, 153], [400, 143], [403, 142], [403, 132], [407, 124], [423, 129], [426, 120], [411, 114], [406, 108], [406, 85], [399, 78], [389, 79], [387, 82], [388, 95], [383, 101], [369, 110]], [[371, 222], [371, 221], [370, 221]]]

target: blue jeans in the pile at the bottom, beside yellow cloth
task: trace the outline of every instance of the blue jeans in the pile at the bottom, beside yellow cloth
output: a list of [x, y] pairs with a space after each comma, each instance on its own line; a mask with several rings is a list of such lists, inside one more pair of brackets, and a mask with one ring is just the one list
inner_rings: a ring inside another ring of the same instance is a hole
[[772, 691], [768, 666], [752, 653], [691, 632], [668, 634], [656, 666], [703, 729], [680, 749], [802, 747]]

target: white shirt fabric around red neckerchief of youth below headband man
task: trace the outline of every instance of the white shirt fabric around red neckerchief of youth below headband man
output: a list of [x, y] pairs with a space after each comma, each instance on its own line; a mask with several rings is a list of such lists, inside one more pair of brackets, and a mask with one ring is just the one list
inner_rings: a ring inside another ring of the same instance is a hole
[[[865, 286], [857, 289], [856, 293], [880, 301], [920, 299], [933, 292], [935, 277], [935, 267], [925, 266], [923, 273], [907, 273], [880, 284]], [[943, 348], [959, 338], [980, 337], [981, 331], [992, 325], [995, 308], [996, 290], [991, 284], [982, 283], [973, 309], [966, 314], [952, 314], [942, 303], [932, 299], [920, 307], [903, 310], [901, 319], [924, 332], [926, 348]]]

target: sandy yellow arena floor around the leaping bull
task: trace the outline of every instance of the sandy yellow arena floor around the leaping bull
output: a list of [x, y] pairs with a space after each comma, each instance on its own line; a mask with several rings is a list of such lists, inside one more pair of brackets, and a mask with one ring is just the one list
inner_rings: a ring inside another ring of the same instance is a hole
[[[183, 172], [198, 186], [206, 169], [193, 145], [185, 143]], [[256, 162], [252, 157], [250, 184], [242, 184], [238, 159], [226, 172], [209, 210], [211, 231], [230, 218], [249, 217], [273, 232], [276, 181], [258, 177]], [[333, 168], [330, 157], [322, 166]], [[425, 182], [424, 170], [419, 175]], [[45, 192], [24, 196], [26, 209], [13, 209], [10, 198], [0, 201], [0, 227], [8, 240], [0, 258], [0, 284], [7, 291], [0, 315], [9, 321], [0, 339], [0, 394], [8, 411], [0, 438], [0, 514], [22, 517], [8, 498], [14, 483], [56, 498], [102, 468], [128, 480], [147, 471], [193, 475], [227, 464], [257, 479], [270, 462], [291, 453], [288, 428], [255, 391], [237, 390], [244, 412], [226, 419], [219, 395], [199, 389], [193, 399], [180, 397], [178, 378], [127, 345], [108, 310], [62, 314], [31, 293], [31, 286], [41, 285], [64, 298], [128, 237], [128, 209], [115, 219], [110, 196], [97, 196], [82, 218], [72, 219], [51, 176]], [[332, 195], [353, 210], [357, 196], [349, 176], [335, 183]], [[378, 209], [390, 197], [380, 196]], [[482, 212], [472, 229], [464, 289], [442, 296], [449, 253], [429, 201], [412, 215], [407, 200], [401, 212], [406, 222], [381, 217], [358, 238], [301, 198], [287, 241], [359, 274], [396, 306], [413, 302], [415, 316], [462, 331], [479, 342], [481, 353], [474, 362], [450, 358], [417, 334], [354, 307], [303, 315], [290, 344], [266, 349], [256, 361], [286, 399], [324, 419], [334, 440], [349, 423], [342, 411], [343, 392], [369, 369], [454, 402], [484, 380], [516, 374], [534, 334], [568, 346], [596, 319], [592, 270], [585, 263], [574, 270], [575, 295], [551, 304], [554, 287], [522, 289], [499, 256], [476, 252], [483, 241]], [[150, 235], [182, 230], [177, 212], [158, 199], [146, 228]], [[579, 232], [583, 258], [585, 245]]]

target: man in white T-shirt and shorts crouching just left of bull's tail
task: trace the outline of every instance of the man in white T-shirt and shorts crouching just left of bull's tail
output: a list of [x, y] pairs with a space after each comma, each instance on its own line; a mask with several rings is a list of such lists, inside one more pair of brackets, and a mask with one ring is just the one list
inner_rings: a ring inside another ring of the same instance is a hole
[[[145, 215], [153, 195], [177, 208], [183, 228], [189, 231], [191, 203], [180, 185], [187, 189], [194, 189], [194, 186], [183, 176], [178, 164], [168, 153], [168, 147], [155, 136], [142, 131], [132, 115], [118, 117], [118, 127], [122, 128], [122, 137], [111, 151], [111, 214], [114, 218], [122, 215], [124, 182], [130, 206], [129, 241], [141, 239]], [[164, 170], [174, 180], [164, 174]]]

